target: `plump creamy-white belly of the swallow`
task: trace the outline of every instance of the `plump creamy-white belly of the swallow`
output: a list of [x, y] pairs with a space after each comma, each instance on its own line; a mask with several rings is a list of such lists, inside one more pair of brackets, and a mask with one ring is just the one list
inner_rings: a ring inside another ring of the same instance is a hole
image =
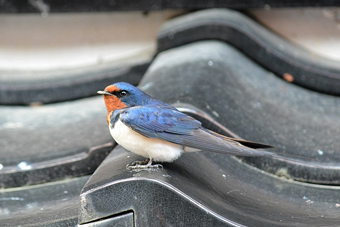
[[179, 158], [183, 147], [155, 138], [138, 134], [118, 120], [114, 128], [110, 127], [113, 139], [125, 149], [154, 161], [172, 162]]

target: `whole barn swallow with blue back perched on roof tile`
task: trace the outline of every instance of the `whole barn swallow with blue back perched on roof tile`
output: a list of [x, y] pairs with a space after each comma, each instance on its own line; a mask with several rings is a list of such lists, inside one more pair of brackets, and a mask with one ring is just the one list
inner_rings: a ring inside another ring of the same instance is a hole
[[202, 126], [193, 117], [175, 107], [150, 97], [135, 86], [119, 82], [104, 91], [107, 123], [114, 140], [125, 149], [153, 161], [172, 162], [182, 153], [210, 151], [236, 156], [271, 156], [274, 153], [256, 150], [269, 145], [220, 135]]

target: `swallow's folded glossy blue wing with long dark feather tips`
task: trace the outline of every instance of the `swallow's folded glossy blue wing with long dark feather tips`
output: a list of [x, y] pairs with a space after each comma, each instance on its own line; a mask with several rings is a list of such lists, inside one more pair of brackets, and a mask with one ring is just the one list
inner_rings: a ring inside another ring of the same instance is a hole
[[[232, 138], [211, 132], [203, 128], [201, 122], [198, 120], [174, 108], [167, 109], [154, 106], [133, 107], [122, 110], [119, 119], [132, 130], [146, 137], [158, 138], [204, 151], [238, 156], [263, 156], [273, 154], [242, 145], [242, 142], [245, 144], [252, 144], [252, 142], [236, 141]], [[256, 145], [261, 147], [261, 144]]]

